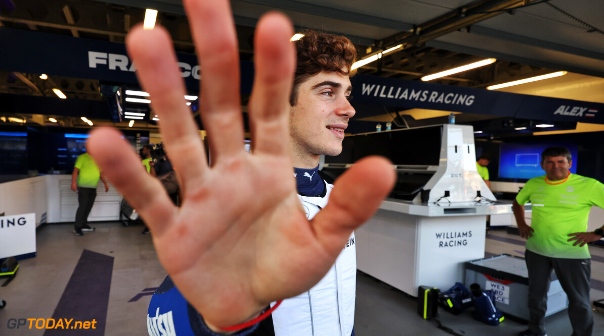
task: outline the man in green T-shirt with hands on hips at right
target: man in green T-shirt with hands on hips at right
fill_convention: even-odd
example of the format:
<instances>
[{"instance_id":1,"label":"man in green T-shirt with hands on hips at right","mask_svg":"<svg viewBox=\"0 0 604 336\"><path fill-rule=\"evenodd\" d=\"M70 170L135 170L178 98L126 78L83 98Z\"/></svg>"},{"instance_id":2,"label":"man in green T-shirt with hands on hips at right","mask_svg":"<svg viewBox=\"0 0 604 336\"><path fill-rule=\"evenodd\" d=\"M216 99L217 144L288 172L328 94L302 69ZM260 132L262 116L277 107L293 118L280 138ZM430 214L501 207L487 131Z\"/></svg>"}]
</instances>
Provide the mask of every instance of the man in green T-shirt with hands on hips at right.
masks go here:
<instances>
[{"instance_id":1,"label":"man in green T-shirt with hands on hips at right","mask_svg":"<svg viewBox=\"0 0 604 336\"><path fill-rule=\"evenodd\" d=\"M603 237L602 228L587 230L590 209L604 208L604 184L571 174L568 149L551 147L541 154L544 176L529 179L512 209L518 231L527 239L528 329L518 336L545 335L544 317L551 269L567 293L568 317L574 336L591 335L594 326L590 303L591 256L586 243ZM524 219L524 204L531 202L531 226Z\"/></svg>"}]
</instances>

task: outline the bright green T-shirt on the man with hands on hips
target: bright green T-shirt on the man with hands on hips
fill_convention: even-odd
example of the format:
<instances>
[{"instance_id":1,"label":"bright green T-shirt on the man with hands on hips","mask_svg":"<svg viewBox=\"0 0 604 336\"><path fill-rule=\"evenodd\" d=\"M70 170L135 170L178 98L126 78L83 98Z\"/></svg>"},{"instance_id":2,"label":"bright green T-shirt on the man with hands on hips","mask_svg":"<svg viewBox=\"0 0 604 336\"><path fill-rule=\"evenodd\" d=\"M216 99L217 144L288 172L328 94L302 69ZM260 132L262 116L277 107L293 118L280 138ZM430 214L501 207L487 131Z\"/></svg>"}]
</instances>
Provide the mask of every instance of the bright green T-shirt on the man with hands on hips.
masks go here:
<instances>
[{"instance_id":1,"label":"bright green T-shirt on the man with hands on hips","mask_svg":"<svg viewBox=\"0 0 604 336\"><path fill-rule=\"evenodd\" d=\"M518 204L533 205L531 227L526 249L553 258L591 258L587 245L573 246L568 234L587 231L587 220L593 205L604 208L604 184L593 178L570 174L560 184L550 184L544 176L529 179L516 196Z\"/></svg>"}]
</instances>

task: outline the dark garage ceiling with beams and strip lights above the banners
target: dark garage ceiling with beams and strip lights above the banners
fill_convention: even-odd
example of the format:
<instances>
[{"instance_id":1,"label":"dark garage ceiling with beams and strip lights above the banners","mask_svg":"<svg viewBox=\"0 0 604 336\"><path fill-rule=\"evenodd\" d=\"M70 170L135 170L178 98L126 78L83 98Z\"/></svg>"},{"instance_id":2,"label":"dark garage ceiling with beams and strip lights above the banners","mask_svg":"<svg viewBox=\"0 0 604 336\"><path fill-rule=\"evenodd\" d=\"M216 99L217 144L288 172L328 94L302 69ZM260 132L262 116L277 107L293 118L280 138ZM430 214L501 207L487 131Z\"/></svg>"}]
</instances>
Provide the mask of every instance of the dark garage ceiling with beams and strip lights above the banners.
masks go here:
<instances>
[{"instance_id":1,"label":"dark garage ceiling with beams and strip lights above the banners","mask_svg":"<svg viewBox=\"0 0 604 336\"><path fill-rule=\"evenodd\" d=\"M15 8L8 13L6 5L11 3ZM159 23L172 34L177 51L194 52L179 0L0 0L0 4L2 26L110 42L123 42L130 27L143 21L144 8L154 8L159 10ZM567 70L575 74L555 79L556 87L566 87L567 81L573 82L567 87L576 87L577 78L589 82L574 90L580 98L547 83L554 79L533 84L530 94L604 102L604 1L232 0L231 5L242 60L252 60L255 23L263 13L276 9L288 14L297 29L348 36L361 57L403 45L359 73L419 80L429 73L494 57L498 61L490 66L434 82L484 88ZM51 85L38 75L0 72L0 93L53 95ZM69 98L99 97L98 81L51 80ZM521 87L513 90L524 93Z\"/></svg>"}]
</instances>

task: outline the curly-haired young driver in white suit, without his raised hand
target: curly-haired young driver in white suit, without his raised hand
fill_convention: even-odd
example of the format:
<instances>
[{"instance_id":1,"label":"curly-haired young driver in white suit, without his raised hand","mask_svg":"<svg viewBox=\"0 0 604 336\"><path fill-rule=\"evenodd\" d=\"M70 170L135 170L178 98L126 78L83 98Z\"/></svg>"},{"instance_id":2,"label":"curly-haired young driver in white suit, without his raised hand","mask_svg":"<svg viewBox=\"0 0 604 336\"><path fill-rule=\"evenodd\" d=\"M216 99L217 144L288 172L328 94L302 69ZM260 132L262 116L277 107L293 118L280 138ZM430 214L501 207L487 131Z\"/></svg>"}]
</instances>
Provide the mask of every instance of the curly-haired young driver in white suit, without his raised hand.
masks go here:
<instances>
[{"instance_id":1,"label":"curly-haired young driver in white suit, without his raised hand","mask_svg":"<svg viewBox=\"0 0 604 336\"><path fill-rule=\"evenodd\" d=\"M349 69L355 62L356 49L346 37L313 30L301 34L304 37L295 42L297 67L289 99L289 137L298 198L306 218L311 220L327 205L333 188L319 172L320 157L342 151L344 130L355 115L349 102L350 76L354 72ZM318 284L283 300L251 335L354 335L354 232L342 247L335 264ZM171 279L166 278L150 303L149 318L157 308L165 308L161 307L165 301L162 296L174 296L175 291ZM191 328L196 335L209 332L201 323L191 323Z\"/></svg>"}]
</instances>

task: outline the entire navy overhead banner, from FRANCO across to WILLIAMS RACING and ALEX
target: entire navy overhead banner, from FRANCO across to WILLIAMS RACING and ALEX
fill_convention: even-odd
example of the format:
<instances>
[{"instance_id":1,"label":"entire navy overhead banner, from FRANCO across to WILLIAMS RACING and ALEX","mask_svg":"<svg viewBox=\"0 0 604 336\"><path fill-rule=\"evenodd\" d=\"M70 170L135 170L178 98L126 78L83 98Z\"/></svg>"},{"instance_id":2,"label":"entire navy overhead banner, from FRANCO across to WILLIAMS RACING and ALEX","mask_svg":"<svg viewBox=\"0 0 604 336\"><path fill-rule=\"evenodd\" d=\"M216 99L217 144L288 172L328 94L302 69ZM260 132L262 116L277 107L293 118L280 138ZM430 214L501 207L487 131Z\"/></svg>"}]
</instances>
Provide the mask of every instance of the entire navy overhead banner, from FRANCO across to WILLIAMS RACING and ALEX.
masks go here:
<instances>
[{"instance_id":1,"label":"entire navy overhead banner, from FRANCO across to WILLIAMS RACING and ALEX","mask_svg":"<svg viewBox=\"0 0 604 336\"><path fill-rule=\"evenodd\" d=\"M123 43L81 39L0 27L0 69L72 78L138 84L135 64ZM190 90L199 88L196 55L177 54L179 71ZM241 62L242 94L251 93L254 64ZM520 95L422 81L356 75L353 104L396 109L424 108L521 119L604 123L604 104ZM602 111L602 112L600 112ZM376 114L384 114L376 108Z\"/></svg>"}]
</instances>

